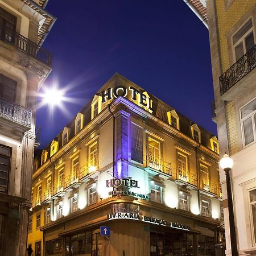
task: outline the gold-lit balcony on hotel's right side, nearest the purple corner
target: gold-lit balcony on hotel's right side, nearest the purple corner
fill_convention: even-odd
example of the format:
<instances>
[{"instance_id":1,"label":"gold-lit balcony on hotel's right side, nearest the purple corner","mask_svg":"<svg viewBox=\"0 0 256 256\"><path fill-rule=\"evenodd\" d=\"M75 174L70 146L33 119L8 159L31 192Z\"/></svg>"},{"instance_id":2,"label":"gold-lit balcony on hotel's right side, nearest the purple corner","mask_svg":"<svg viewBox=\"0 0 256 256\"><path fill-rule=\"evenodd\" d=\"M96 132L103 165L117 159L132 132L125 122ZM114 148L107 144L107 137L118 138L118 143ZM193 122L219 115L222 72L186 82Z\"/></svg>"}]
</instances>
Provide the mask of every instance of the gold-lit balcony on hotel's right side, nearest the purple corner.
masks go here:
<instances>
[{"instance_id":1,"label":"gold-lit balcony on hotel's right side, nearest the purple corner","mask_svg":"<svg viewBox=\"0 0 256 256\"><path fill-rule=\"evenodd\" d=\"M172 176L172 168L170 163L161 161L160 159L158 159L158 161L152 160L151 156L147 156L146 158L145 170L153 175L160 174L167 177Z\"/></svg>"}]
</instances>

